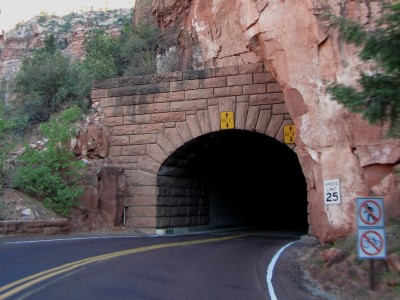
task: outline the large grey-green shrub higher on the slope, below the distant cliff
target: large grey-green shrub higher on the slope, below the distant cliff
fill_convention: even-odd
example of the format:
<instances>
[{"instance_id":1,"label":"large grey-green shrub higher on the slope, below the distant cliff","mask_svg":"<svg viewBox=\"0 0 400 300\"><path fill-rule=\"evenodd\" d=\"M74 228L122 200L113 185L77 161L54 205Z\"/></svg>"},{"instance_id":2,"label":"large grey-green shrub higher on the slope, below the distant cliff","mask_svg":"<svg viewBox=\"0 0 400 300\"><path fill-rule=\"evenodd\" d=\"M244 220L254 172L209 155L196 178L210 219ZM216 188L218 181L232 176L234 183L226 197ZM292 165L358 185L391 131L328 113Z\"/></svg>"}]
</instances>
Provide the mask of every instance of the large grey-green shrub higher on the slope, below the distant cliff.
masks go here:
<instances>
[{"instance_id":1,"label":"large grey-green shrub higher on the slope, below the distant cliff","mask_svg":"<svg viewBox=\"0 0 400 300\"><path fill-rule=\"evenodd\" d=\"M23 131L46 122L65 103L86 108L91 83L79 72L77 63L63 57L53 35L45 38L45 46L25 57L16 74L11 92L13 106Z\"/></svg>"}]
</instances>

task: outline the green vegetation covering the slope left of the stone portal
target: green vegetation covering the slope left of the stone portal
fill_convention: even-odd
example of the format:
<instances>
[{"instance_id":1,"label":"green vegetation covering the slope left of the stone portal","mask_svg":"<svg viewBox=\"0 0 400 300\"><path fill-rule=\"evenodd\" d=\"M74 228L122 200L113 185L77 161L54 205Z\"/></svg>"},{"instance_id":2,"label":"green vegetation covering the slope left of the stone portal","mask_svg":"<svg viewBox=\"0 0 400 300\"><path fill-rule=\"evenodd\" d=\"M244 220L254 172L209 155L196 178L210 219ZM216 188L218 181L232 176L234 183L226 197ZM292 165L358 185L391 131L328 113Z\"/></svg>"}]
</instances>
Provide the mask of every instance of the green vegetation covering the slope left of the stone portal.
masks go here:
<instances>
[{"instance_id":1,"label":"green vegetation covering the slope left of the stone portal","mask_svg":"<svg viewBox=\"0 0 400 300\"><path fill-rule=\"evenodd\" d=\"M0 181L11 178L16 188L43 199L46 207L63 216L69 215L82 193L85 166L70 151L69 142L76 136L74 122L90 107L92 80L156 72L158 28L131 28L130 20L125 20L120 34L110 35L98 26L106 19L103 14L93 21L81 60L63 55L65 45L60 43L60 34L77 23L68 19L60 27L53 17L40 16L42 26L50 24L62 30L47 34L43 46L23 57L15 77L0 88L0 138L6 138L8 144L13 140L21 142L20 137L29 136L37 128L46 140L41 150L27 144L24 154L16 160L15 170L7 170L12 174L4 172L2 162L7 153L2 145Z\"/></svg>"}]
</instances>

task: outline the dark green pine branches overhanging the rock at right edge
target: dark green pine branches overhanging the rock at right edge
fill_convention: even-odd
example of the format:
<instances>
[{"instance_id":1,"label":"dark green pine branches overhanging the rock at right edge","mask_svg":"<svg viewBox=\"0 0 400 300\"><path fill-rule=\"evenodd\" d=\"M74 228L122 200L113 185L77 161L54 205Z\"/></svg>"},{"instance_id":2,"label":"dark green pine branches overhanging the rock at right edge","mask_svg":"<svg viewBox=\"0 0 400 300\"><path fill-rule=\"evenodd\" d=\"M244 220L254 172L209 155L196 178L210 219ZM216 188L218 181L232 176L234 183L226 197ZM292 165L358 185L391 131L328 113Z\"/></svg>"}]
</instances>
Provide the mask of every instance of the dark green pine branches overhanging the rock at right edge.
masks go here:
<instances>
[{"instance_id":1,"label":"dark green pine branches overhanging the rock at right edge","mask_svg":"<svg viewBox=\"0 0 400 300\"><path fill-rule=\"evenodd\" d=\"M335 17L333 24L347 43L361 48L363 61L375 62L375 68L360 73L357 88L335 82L328 93L371 124L387 123L389 137L400 137L400 1L383 6L371 31L342 17Z\"/></svg>"}]
</instances>

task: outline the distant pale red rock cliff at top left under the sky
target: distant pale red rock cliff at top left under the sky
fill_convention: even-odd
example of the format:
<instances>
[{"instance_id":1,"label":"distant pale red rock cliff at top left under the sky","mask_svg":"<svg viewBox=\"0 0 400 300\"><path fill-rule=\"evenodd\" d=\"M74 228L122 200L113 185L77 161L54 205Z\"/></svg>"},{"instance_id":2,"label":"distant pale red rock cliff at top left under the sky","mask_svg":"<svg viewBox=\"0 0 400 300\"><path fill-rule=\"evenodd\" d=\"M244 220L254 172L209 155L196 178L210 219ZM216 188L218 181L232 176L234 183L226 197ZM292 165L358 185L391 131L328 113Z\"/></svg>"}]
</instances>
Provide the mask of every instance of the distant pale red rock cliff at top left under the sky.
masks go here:
<instances>
[{"instance_id":1,"label":"distant pale red rock cliff at top left under the sky","mask_svg":"<svg viewBox=\"0 0 400 300\"><path fill-rule=\"evenodd\" d=\"M40 47L47 34L56 36L66 56L82 58L85 35L96 28L104 29L110 34L119 34L131 14L130 9L119 9L71 13L63 17L41 15L18 24L14 29L0 34L0 78L12 78L23 55Z\"/></svg>"}]
</instances>

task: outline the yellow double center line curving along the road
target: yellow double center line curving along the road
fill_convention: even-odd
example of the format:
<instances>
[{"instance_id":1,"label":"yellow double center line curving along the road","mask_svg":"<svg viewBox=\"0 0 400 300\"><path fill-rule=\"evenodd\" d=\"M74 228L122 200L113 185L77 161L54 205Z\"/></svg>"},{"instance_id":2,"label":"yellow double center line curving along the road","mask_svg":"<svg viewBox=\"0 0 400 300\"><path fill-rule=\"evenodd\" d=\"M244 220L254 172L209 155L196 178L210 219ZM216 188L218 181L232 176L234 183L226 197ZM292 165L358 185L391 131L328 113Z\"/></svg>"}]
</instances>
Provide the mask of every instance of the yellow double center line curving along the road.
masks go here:
<instances>
[{"instance_id":1,"label":"yellow double center line curving along the road","mask_svg":"<svg viewBox=\"0 0 400 300\"><path fill-rule=\"evenodd\" d=\"M17 280L12 283L9 283L5 286L2 286L2 287L0 287L0 299L2 299L2 300L6 299L7 297L11 297L17 293L20 293L24 289L27 289L27 288L31 287L32 285L37 284L41 281L44 281L46 279L49 279L51 277L54 277L54 276L57 276L57 275L60 275L63 273L70 272L74 269L80 268L82 266L85 266L85 265L88 265L88 264L91 264L94 262L111 259L111 258L118 257L118 256L128 255L128 254L139 253L139 252L157 250L157 249L162 249L162 248L219 242L219 241L225 241L225 240L230 240L230 239L236 239L236 238L240 238L240 237L248 236L248 235L249 234L243 234L243 235L233 235L233 236L226 236L226 237L220 237L220 238L194 240L194 241L187 241L187 242L157 244L157 245L152 245L152 246L147 246L147 247L134 248L134 249L112 252L112 253L108 253L108 254L103 254L103 255L98 255L98 256L81 259L81 260L78 260L78 261L75 261L72 263L61 265L61 266L53 268L53 269L49 269L49 270L46 270L43 272L39 272L39 273L30 275L28 277L22 278L20 280Z\"/></svg>"}]
</instances>

